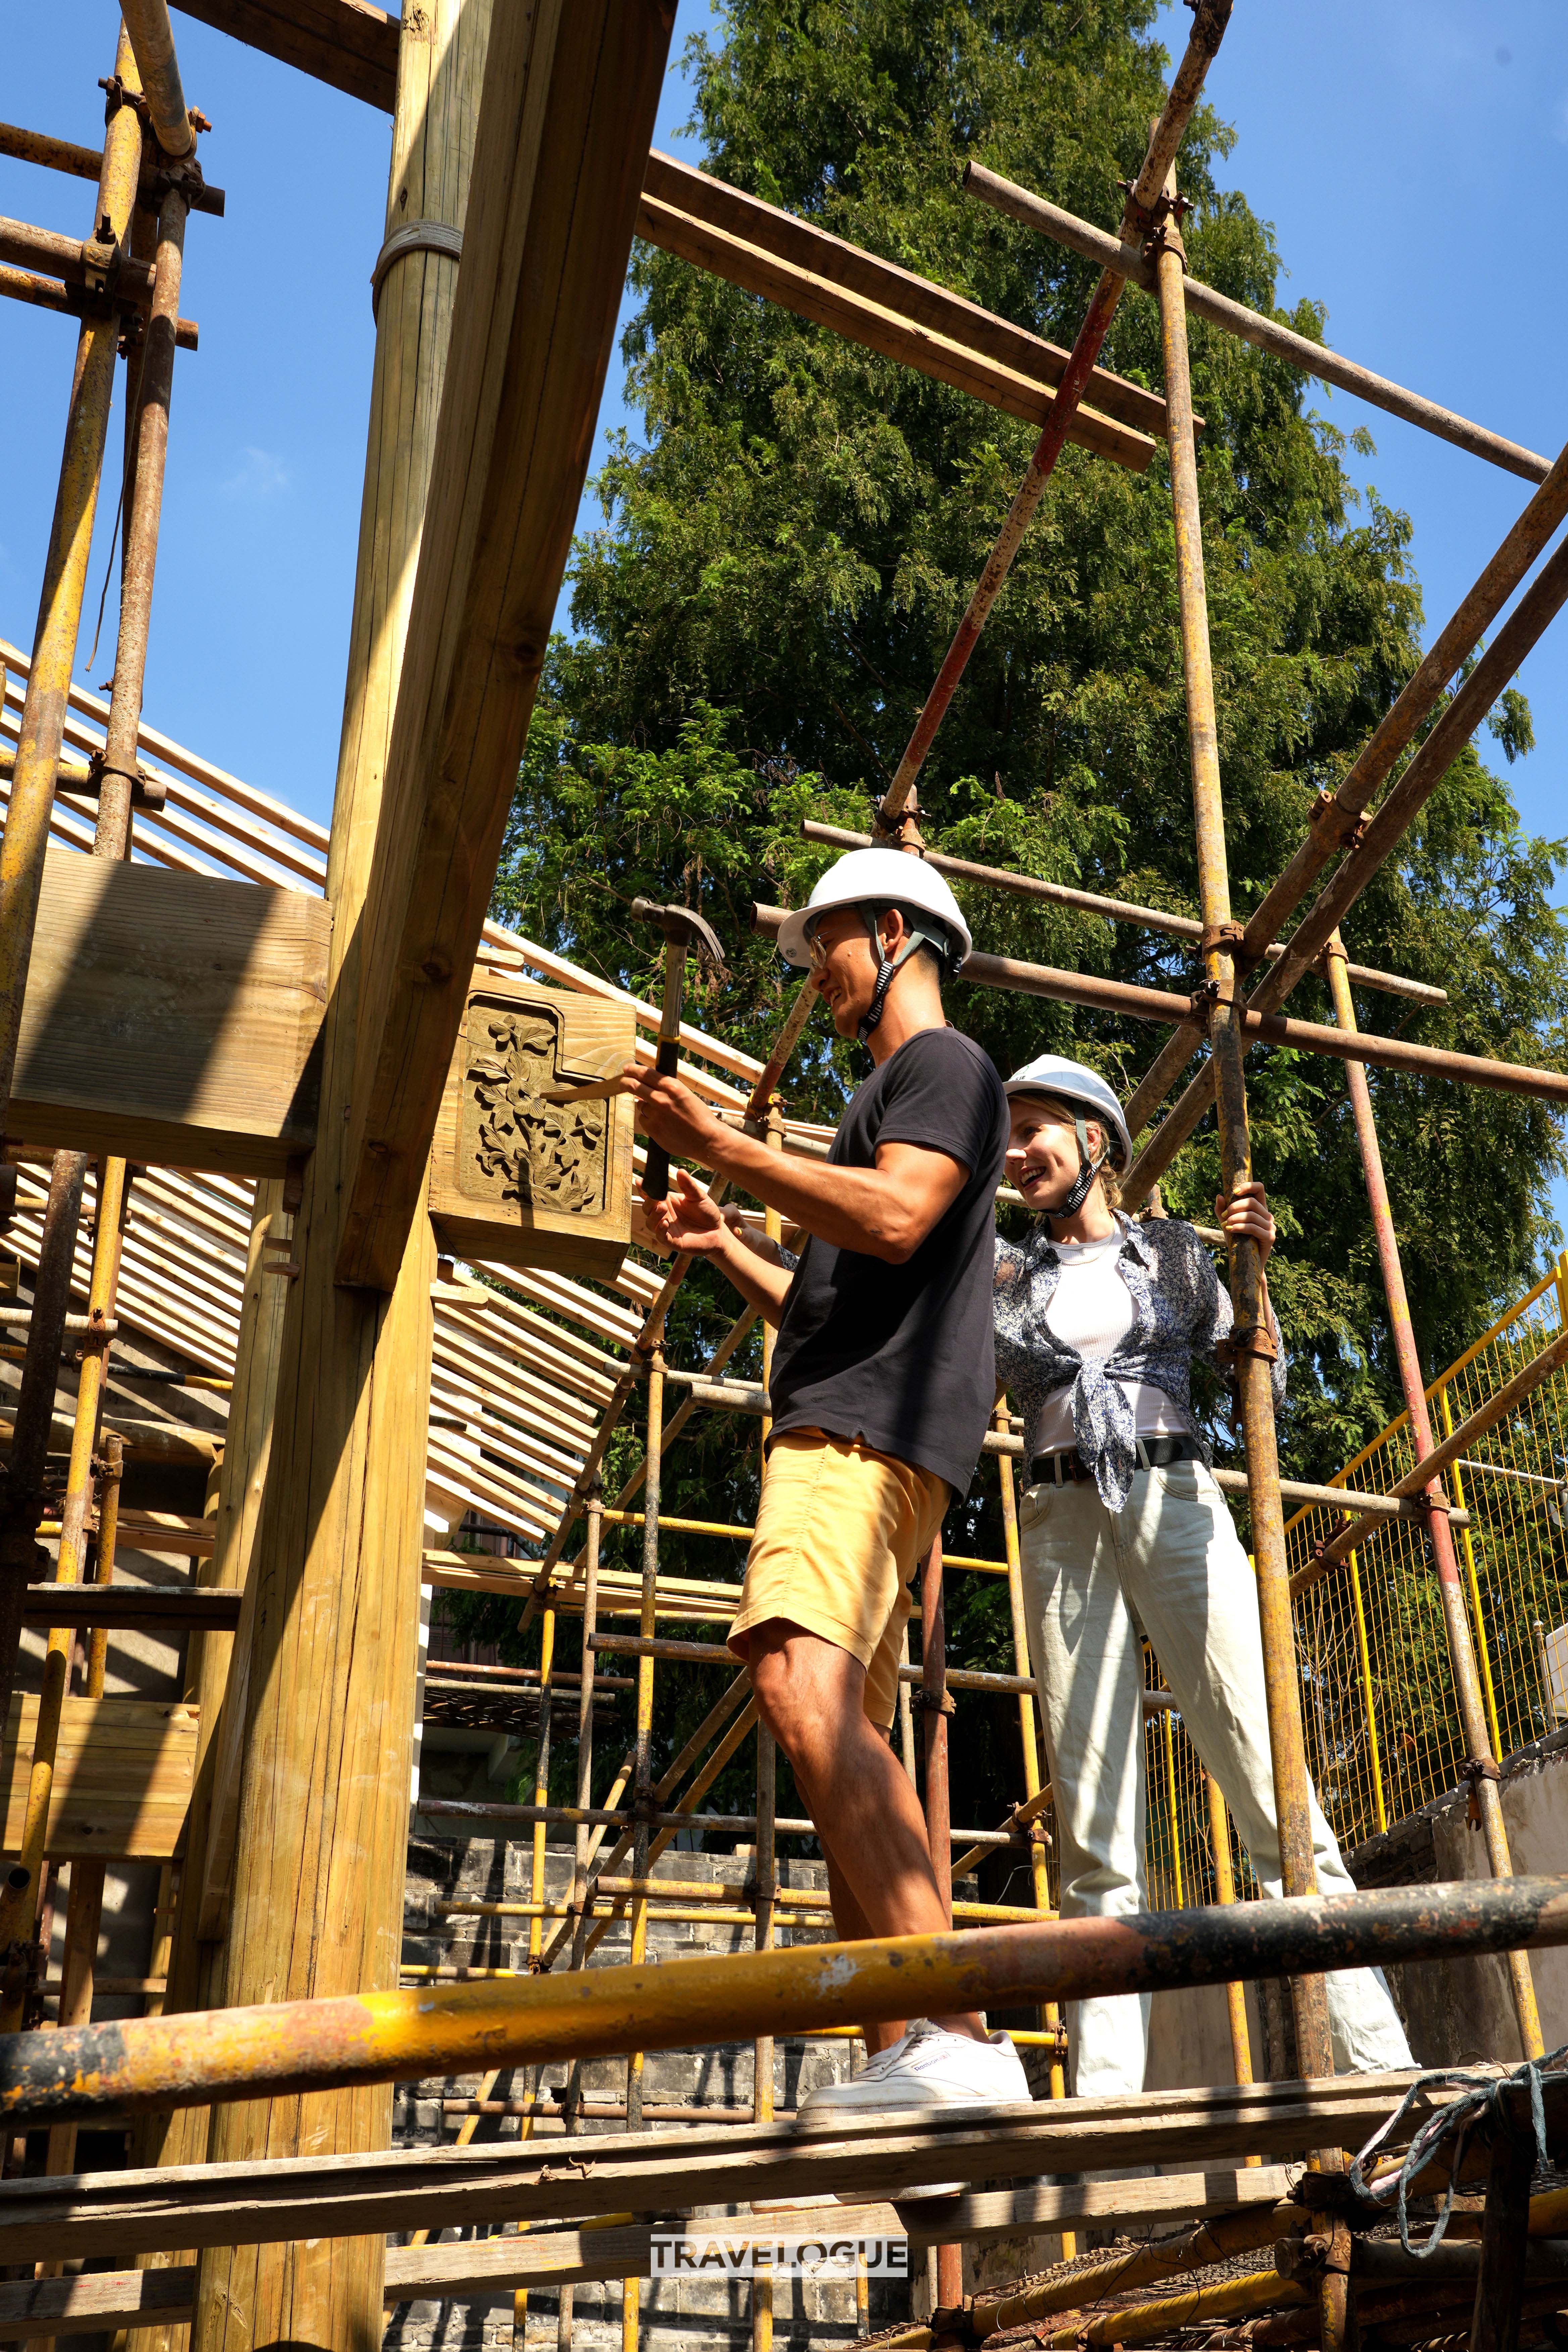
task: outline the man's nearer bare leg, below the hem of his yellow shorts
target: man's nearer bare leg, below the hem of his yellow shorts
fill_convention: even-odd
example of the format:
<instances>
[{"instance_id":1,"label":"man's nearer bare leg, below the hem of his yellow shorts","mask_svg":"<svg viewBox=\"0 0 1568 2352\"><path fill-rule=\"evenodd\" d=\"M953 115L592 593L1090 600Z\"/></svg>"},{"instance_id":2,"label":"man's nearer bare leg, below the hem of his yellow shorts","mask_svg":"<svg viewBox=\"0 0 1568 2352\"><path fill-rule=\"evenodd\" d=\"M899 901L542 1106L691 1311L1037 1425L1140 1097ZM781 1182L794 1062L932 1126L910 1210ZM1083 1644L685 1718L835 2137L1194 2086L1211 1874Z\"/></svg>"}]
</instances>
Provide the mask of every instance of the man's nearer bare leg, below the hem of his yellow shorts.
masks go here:
<instances>
[{"instance_id":1,"label":"man's nearer bare leg, below the hem of his yellow shorts","mask_svg":"<svg viewBox=\"0 0 1568 2352\"><path fill-rule=\"evenodd\" d=\"M748 1630L748 1668L757 1710L795 1766L827 1853L839 1933L849 1936L853 1903L860 1936L945 1936L947 1910L919 1799L867 1722L860 1661L788 1618L769 1618ZM987 2039L973 2009L931 2023Z\"/></svg>"}]
</instances>

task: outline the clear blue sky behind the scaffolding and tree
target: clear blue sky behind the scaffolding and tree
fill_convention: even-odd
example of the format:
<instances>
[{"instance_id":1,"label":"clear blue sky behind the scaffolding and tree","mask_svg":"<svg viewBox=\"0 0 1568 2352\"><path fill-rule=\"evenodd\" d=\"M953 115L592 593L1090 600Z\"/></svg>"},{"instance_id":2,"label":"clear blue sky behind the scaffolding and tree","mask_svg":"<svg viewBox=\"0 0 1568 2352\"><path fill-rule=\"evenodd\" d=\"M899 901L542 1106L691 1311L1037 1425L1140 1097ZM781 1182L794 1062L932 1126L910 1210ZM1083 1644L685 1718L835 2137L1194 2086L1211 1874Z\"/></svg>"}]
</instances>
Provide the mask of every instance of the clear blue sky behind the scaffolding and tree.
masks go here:
<instances>
[{"instance_id":1,"label":"clear blue sky behind the scaffolding and tree","mask_svg":"<svg viewBox=\"0 0 1568 2352\"><path fill-rule=\"evenodd\" d=\"M682 0L672 59L710 21ZM381 245L388 125L376 111L176 14L186 92L214 122L209 179L228 219L193 219L146 713L221 767L324 818L336 762L371 367L369 270ZM1171 49L1185 7L1164 7ZM1274 223L1286 299L1328 306L1328 341L1401 383L1552 454L1568 430L1568 325L1549 191L1568 165L1561 0L1237 0L1211 99L1237 127L1227 176ZM7 26L9 87L35 129L94 143L110 0L49 0ZM21 111L21 96L12 111ZM682 151L670 71L656 143ZM686 153L691 148L686 146ZM1046 191L1048 193L1048 191ZM92 191L0 158L0 212L82 235ZM1105 221L1114 216L1107 188ZM49 532L73 329L0 303L7 475L0 635L26 644ZM635 423L621 360L599 419ZM1526 485L1342 393L1312 390L1378 454L1352 459L1410 513L1427 623L1439 626ZM115 416L115 437L120 419ZM597 506L588 501L588 520ZM87 670L113 489L94 546L78 675L113 666L113 583ZM1568 830L1568 677L1547 637L1521 675L1535 753L1512 769L1523 821Z\"/></svg>"}]
</instances>

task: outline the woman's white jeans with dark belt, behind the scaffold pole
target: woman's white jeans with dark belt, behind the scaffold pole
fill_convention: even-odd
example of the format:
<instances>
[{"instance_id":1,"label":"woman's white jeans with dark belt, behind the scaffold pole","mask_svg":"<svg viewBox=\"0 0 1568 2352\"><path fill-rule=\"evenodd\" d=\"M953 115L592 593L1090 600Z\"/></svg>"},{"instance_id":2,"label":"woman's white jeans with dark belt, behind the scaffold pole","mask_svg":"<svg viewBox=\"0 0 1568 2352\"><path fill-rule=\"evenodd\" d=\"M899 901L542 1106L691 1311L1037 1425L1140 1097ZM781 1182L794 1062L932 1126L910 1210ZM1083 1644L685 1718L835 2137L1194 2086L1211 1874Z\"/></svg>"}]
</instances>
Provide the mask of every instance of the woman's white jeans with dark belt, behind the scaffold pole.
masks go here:
<instances>
[{"instance_id":1,"label":"woman's white jeans with dark belt, behind the scaffold pole","mask_svg":"<svg viewBox=\"0 0 1568 2352\"><path fill-rule=\"evenodd\" d=\"M1192 1745L1220 1783L1253 1872L1281 1893L1258 1583L1204 1463L1140 1470L1110 1512L1088 1482L1025 1489L1018 1510L1030 1658L1060 1837L1063 1919L1145 1907L1143 1658L1154 1646ZM1312 1797L1319 1893L1352 1893ZM1413 2065L1382 1971L1328 1978L1340 2072ZM1143 2091L1150 1997L1070 2004L1079 2098Z\"/></svg>"}]
</instances>

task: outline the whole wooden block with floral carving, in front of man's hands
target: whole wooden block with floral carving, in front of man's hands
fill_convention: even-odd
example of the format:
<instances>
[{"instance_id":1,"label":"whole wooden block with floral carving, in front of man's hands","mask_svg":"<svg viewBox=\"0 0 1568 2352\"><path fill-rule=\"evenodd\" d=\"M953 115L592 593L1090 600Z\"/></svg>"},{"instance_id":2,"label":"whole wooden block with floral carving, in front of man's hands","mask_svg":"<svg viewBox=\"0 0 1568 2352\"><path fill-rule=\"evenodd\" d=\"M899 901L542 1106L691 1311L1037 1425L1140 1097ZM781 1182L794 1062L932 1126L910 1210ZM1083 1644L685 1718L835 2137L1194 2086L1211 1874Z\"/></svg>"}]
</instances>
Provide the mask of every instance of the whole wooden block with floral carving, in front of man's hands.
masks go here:
<instances>
[{"instance_id":1,"label":"whole wooden block with floral carving, in front of man's hands","mask_svg":"<svg viewBox=\"0 0 1568 2352\"><path fill-rule=\"evenodd\" d=\"M430 1152L447 1249L508 1265L614 1275L630 1240L632 1117L623 1096L545 1103L632 1056L630 1011L571 990L491 981L468 995Z\"/></svg>"}]
</instances>

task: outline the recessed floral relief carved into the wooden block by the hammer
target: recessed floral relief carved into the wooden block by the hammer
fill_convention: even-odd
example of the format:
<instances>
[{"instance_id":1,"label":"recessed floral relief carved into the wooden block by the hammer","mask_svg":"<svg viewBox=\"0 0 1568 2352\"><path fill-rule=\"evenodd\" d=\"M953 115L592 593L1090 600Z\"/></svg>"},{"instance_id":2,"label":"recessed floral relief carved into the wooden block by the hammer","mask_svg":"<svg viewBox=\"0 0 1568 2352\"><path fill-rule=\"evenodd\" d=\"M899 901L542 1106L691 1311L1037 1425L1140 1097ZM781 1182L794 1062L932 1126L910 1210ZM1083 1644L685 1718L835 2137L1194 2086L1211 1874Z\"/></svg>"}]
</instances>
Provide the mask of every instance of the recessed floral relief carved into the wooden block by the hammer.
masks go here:
<instances>
[{"instance_id":1,"label":"recessed floral relief carved into the wooden block by the hammer","mask_svg":"<svg viewBox=\"0 0 1568 2352\"><path fill-rule=\"evenodd\" d=\"M524 1209L597 1214L609 1178L607 1103L541 1103L562 1070L562 1018L473 997L463 1054L458 1190Z\"/></svg>"}]
</instances>

